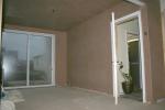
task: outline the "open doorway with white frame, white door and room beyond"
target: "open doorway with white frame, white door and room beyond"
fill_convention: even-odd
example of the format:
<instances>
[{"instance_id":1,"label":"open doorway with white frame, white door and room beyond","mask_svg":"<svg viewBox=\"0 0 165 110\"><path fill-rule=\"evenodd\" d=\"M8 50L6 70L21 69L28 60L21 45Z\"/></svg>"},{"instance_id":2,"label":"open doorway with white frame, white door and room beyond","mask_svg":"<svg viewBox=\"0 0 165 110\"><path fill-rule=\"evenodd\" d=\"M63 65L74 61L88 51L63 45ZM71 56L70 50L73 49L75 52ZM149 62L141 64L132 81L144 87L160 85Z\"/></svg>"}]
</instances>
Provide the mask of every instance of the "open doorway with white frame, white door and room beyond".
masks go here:
<instances>
[{"instance_id":1,"label":"open doorway with white frame, white door and room beyond","mask_svg":"<svg viewBox=\"0 0 165 110\"><path fill-rule=\"evenodd\" d=\"M114 20L112 13L112 59L113 59L113 96L146 102L144 52L141 11ZM122 64L122 70L120 65ZM132 92L127 94L123 88L125 78L132 79Z\"/></svg>"}]
</instances>

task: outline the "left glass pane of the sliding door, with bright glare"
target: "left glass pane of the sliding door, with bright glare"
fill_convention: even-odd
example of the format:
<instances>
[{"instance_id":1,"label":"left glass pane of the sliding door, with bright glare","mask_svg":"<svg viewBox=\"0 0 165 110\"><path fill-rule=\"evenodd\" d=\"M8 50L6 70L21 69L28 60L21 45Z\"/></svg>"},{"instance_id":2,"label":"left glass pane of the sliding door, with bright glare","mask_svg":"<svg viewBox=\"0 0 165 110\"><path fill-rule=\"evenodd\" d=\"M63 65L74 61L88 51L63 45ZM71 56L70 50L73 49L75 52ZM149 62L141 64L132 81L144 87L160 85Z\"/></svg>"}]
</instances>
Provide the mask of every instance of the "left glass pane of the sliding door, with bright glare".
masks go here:
<instances>
[{"instance_id":1,"label":"left glass pane of the sliding door, with bright glare","mask_svg":"<svg viewBox=\"0 0 165 110\"><path fill-rule=\"evenodd\" d=\"M3 85L26 86L28 35L12 32L2 35Z\"/></svg>"}]
</instances>

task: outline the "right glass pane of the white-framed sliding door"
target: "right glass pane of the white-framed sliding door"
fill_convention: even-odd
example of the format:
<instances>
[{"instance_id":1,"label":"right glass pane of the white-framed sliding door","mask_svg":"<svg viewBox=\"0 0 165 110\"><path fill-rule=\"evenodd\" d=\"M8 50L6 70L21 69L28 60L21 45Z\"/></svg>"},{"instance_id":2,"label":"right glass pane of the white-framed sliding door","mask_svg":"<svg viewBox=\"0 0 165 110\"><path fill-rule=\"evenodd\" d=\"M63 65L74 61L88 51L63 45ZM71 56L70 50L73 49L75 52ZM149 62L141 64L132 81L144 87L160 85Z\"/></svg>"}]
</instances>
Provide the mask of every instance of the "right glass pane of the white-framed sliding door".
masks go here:
<instances>
[{"instance_id":1,"label":"right glass pane of the white-framed sliding door","mask_svg":"<svg viewBox=\"0 0 165 110\"><path fill-rule=\"evenodd\" d=\"M52 37L31 35L29 40L30 85L51 85Z\"/></svg>"}]
</instances>

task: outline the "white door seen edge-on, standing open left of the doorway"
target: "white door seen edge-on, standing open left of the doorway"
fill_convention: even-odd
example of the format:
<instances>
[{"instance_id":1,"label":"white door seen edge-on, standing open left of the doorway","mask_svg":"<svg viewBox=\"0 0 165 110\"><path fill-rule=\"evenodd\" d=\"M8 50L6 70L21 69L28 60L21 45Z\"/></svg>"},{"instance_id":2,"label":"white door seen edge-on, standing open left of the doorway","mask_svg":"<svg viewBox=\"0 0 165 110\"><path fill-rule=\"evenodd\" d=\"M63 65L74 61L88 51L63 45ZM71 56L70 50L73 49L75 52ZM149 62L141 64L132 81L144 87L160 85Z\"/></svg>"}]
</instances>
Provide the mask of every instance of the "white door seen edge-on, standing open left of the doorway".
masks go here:
<instances>
[{"instance_id":1,"label":"white door seen edge-on, standing open left of the doorway","mask_svg":"<svg viewBox=\"0 0 165 110\"><path fill-rule=\"evenodd\" d=\"M116 22L114 22L114 12L112 12L112 22L111 22L111 47L112 47L112 69L113 69L113 96L114 103L118 105L118 64L117 64L117 46L116 46Z\"/></svg>"}]
</instances>

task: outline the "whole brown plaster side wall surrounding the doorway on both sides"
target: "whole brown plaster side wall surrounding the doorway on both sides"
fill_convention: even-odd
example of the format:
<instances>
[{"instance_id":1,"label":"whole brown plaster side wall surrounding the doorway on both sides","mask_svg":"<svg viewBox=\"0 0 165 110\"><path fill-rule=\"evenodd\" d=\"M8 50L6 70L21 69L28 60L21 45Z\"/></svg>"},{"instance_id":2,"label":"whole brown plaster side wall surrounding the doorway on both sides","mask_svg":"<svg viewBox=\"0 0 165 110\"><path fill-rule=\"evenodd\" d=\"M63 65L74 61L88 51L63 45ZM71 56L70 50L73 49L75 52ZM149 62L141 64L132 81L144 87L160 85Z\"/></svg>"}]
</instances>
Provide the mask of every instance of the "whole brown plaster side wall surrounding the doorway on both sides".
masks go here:
<instances>
[{"instance_id":1,"label":"whole brown plaster side wall surrounding the doorway on both sides","mask_svg":"<svg viewBox=\"0 0 165 110\"><path fill-rule=\"evenodd\" d=\"M68 80L70 86L112 94L111 12L116 19L142 11L146 100L163 98L164 63L158 0L144 7L122 2L72 28L68 33Z\"/></svg>"}]
</instances>

